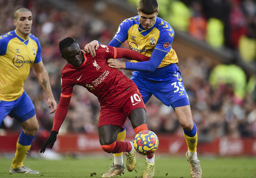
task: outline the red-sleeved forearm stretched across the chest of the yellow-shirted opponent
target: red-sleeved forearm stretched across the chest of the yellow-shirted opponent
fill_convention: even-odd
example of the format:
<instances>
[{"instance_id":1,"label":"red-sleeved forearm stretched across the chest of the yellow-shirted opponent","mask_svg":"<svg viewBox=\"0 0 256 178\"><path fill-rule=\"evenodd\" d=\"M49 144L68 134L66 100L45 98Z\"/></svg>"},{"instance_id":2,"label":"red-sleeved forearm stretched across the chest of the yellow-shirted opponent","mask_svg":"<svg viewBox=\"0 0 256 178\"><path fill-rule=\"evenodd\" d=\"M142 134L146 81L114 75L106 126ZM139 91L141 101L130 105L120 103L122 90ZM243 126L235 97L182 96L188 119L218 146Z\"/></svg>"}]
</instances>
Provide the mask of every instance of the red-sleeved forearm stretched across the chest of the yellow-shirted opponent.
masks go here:
<instances>
[{"instance_id":1,"label":"red-sleeved forearm stretched across the chest of the yellow-shirted opponent","mask_svg":"<svg viewBox=\"0 0 256 178\"><path fill-rule=\"evenodd\" d=\"M136 61L148 61L150 59L150 57L147 57L138 52L132 51L130 49L122 49L122 48L117 48L116 58L117 59L125 58L125 59L136 60Z\"/></svg>"}]
</instances>

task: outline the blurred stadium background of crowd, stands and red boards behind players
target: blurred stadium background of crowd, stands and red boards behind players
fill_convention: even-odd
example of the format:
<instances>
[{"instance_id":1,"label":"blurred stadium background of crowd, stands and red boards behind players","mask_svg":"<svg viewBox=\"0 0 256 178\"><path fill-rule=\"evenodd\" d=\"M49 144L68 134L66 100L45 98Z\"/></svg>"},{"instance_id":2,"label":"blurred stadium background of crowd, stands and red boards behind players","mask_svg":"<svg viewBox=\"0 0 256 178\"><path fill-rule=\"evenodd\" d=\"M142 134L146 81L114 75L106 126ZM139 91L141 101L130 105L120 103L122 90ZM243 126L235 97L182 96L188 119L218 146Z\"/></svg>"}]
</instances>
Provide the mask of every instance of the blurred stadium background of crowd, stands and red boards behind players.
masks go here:
<instances>
[{"instance_id":1,"label":"blurred stadium background of crowd, stands and red boards behind players","mask_svg":"<svg viewBox=\"0 0 256 178\"><path fill-rule=\"evenodd\" d=\"M174 28L173 49L189 95L199 135L198 152L220 156L256 156L256 1L158 0L159 17ZM60 71L65 61L58 43L74 37L82 49L97 39L108 44L122 20L137 15L138 0L0 0L0 34L14 28L17 7L32 11L31 33L41 43L52 92L60 99ZM128 48L127 44L122 45ZM131 71L123 71L128 77ZM47 96L31 71L25 91L40 124L31 151L38 153L52 128ZM159 153L184 154L183 131L171 107L152 97L146 104L148 127L159 136ZM74 88L70 109L54 150L102 152L97 138L97 98ZM127 140L134 131L129 122ZM15 152L21 127L10 117L0 126L0 154ZM8 141L10 144L2 144Z\"/></svg>"}]
</instances>

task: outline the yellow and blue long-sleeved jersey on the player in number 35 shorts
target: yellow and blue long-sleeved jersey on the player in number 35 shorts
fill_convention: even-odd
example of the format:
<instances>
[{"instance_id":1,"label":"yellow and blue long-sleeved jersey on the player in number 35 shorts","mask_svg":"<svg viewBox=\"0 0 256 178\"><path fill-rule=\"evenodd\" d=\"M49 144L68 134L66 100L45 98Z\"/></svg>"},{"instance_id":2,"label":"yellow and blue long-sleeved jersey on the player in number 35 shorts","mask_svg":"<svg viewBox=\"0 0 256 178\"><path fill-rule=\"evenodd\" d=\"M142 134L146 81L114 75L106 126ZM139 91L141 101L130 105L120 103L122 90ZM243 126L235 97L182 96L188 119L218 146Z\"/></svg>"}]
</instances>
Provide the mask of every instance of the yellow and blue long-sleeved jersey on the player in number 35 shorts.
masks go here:
<instances>
[{"instance_id":1,"label":"yellow and blue long-sleeved jersey on the player in number 35 shorts","mask_svg":"<svg viewBox=\"0 0 256 178\"><path fill-rule=\"evenodd\" d=\"M151 57L149 61L140 63L147 63L147 68L154 65L154 67L152 67L154 68L152 71L154 71L155 68L161 68L171 63L179 62L175 51L171 48L173 38L174 30L161 18L156 17L153 26L148 30L144 30L140 27L139 16L135 16L124 20L119 25L117 33L112 41L110 41L109 46L119 47L118 45L121 45L121 43L127 40L130 49ZM118 44L116 40L118 40L120 44ZM129 65L127 69L147 71L146 68L143 70L145 65L127 64Z\"/></svg>"}]
</instances>

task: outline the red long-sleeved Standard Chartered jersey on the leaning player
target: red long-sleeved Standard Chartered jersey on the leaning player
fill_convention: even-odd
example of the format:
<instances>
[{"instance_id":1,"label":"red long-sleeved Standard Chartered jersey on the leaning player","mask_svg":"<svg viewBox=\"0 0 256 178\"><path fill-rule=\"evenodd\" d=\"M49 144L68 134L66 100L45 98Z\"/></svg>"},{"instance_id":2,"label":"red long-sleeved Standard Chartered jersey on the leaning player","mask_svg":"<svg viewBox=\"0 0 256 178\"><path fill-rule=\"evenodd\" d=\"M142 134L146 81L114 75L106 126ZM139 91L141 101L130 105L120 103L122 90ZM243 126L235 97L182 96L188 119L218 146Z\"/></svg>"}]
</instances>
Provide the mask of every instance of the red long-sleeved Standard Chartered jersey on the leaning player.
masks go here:
<instances>
[{"instance_id":1,"label":"red long-sleeved Standard Chartered jersey on the leaning player","mask_svg":"<svg viewBox=\"0 0 256 178\"><path fill-rule=\"evenodd\" d=\"M100 44L96 56L81 50L85 61L80 67L67 63L62 69L60 102L57 106L52 130L59 131L64 121L73 87L81 85L97 96L100 105L111 104L134 91L137 86L121 71L108 66L107 59L126 58L137 61L148 61L149 57L130 49L115 48ZM138 89L137 89L138 90Z\"/></svg>"}]
</instances>

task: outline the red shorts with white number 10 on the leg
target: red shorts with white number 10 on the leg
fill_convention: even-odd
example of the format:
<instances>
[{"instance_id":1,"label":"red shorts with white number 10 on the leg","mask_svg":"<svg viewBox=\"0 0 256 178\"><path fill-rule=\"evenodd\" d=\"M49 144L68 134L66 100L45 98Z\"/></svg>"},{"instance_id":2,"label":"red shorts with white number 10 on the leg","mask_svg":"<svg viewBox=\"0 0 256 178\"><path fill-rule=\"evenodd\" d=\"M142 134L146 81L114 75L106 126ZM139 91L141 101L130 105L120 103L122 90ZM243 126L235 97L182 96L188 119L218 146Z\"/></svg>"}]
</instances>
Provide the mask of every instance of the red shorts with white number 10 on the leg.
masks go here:
<instances>
[{"instance_id":1,"label":"red shorts with white number 10 on the leg","mask_svg":"<svg viewBox=\"0 0 256 178\"><path fill-rule=\"evenodd\" d=\"M119 125L124 129L124 123L130 112L137 108L146 110L139 90L133 90L129 95L119 100L101 106L98 127L102 125Z\"/></svg>"}]
</instances>

